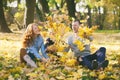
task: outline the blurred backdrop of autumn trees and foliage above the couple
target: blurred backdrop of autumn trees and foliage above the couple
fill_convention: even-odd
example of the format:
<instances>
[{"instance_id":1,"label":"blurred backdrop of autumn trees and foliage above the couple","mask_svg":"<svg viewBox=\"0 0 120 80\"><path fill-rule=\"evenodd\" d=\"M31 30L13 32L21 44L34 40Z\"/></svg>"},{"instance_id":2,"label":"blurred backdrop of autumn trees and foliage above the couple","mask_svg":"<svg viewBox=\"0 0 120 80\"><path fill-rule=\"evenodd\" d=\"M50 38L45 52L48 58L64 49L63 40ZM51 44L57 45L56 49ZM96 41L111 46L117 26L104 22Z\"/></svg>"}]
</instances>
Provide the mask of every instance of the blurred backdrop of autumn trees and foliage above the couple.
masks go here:
<instances>
[{"instance_id":1,"label":"blurred backdrop of autumn trees and foliage above the couple","mask_svg":"<svg viewBox=\"0 0 120 80\"><path fill-rule=\"evenodd\" d=\"M61 22L66 21L65 15L67 20L77 18L88 27L120 30L119 0L0 0L0 32L19 31L56 15Z\"/></svg>"}]
</instances>

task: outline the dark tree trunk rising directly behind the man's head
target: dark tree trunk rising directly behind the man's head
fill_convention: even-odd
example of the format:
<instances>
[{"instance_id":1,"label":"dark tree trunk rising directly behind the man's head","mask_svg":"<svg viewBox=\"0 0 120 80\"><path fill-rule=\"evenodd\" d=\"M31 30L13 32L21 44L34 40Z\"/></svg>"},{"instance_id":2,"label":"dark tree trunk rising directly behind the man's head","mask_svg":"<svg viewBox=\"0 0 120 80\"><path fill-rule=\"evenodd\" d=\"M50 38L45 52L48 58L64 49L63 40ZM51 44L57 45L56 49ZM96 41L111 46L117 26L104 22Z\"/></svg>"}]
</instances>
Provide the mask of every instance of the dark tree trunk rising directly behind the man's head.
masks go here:
<instances>
[{"instance_id":1,"label":"dark tree trunk rising directly behind the man's head","mask_svg":"<svg viewBox=\"0 0 120 80\"><path fill-rule=\"evenodd\" d=\"M66 0L68 15L75 18L75 2L74 0Z\"/></svg>"}]
</instances>

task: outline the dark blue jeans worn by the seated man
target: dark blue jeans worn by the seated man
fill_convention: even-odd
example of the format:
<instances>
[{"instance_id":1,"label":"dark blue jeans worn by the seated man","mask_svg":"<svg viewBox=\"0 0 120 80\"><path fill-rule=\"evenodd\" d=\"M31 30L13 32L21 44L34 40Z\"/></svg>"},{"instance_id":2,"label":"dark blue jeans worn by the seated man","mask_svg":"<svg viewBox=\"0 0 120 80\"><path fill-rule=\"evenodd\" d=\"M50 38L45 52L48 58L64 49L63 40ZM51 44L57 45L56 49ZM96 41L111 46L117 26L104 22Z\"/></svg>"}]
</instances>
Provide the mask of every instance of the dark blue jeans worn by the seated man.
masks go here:
<instances>
[{"instance_id":1,"label":"dark blue jeans worn by the seated man","mask_svg":"<svg viewBox=\"0 0 120 80\"><path fill-rule=\"evenodd\" d=\"M98 64L102 63L105 60L105 55L106 55L106 48L101 47L94 54L82 57L81 64L92 70L93 69L92 61L96 60L98 62Z\"/></svg>"}]
</instances>

